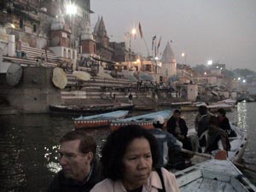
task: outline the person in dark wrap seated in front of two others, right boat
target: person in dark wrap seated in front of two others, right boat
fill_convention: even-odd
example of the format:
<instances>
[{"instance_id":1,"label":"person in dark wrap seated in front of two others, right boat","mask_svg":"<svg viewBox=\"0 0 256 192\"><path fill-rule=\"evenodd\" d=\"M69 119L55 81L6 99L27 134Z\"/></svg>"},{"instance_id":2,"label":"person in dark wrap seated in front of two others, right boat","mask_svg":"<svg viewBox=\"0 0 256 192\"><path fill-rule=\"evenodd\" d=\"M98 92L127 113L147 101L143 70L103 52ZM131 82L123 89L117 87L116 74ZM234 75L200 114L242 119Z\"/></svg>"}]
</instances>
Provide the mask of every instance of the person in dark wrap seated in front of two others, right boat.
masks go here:
<instances>
[{"instance_id":1,"label":"person in dark wrap seated in front of two others, right boat","mask_svg":"<svg viewBox=\"0 0 256 192\"><path fill-rule=\"evenodd\" d=\"M217 117L211 116L209 119L205 153L215 155L219 150L228 152L230 148L230 140L227 133L218 127Z\"/></svg>"}]
</instances>

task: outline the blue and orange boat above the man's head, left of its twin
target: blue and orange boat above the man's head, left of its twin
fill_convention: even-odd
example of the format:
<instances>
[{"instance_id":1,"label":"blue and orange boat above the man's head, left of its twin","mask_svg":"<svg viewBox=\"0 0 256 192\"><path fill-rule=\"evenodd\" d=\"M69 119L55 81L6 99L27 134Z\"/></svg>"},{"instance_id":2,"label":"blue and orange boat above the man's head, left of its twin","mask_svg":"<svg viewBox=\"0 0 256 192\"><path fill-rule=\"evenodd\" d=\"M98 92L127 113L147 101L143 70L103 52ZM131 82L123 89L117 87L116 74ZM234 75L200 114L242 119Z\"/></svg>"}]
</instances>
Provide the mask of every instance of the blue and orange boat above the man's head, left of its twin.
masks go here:
<instances>
[{"instance_id":1,"label":"blue and orange boat above the man's head, left of its twin","mask_svg":"<svg viewBox=\"0 0 256 192\"><path fill-rule=\"evenodd\" d=\"M110 121L113 119L122 119L129 113L126 110L119 110L110 113L101 113L96 115L90 116L80 116L79 118L73 119L75 129L81 128L96 128L96 127L103 127L108 126Z\"/></svg>"}]
</instances>

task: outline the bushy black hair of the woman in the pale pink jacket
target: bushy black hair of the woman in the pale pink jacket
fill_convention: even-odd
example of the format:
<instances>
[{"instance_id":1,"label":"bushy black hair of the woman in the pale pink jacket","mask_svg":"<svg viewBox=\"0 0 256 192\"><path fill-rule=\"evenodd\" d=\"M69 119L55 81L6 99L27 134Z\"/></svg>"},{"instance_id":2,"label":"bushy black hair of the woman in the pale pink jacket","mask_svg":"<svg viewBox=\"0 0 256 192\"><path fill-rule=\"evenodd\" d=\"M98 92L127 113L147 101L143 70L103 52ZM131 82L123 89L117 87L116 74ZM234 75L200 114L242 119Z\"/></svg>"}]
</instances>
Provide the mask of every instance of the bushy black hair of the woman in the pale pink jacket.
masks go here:
<instances>
[{"instance_id":1,"label":"bushy black hair of the woman in the pale pink jacket","mask_svg":"<svg viewBox=\"0 0 256 192\"><path fill-rule=\"evenodd\" d=\"M135 138L148 140L152 154L152 166L156 167L159 161L158 145L154 136L139 125L125 125L113 131L102 148L102 167L105 177L113 181L123 178L123 157L126 148Z\"/></svg>"}]
</instances>

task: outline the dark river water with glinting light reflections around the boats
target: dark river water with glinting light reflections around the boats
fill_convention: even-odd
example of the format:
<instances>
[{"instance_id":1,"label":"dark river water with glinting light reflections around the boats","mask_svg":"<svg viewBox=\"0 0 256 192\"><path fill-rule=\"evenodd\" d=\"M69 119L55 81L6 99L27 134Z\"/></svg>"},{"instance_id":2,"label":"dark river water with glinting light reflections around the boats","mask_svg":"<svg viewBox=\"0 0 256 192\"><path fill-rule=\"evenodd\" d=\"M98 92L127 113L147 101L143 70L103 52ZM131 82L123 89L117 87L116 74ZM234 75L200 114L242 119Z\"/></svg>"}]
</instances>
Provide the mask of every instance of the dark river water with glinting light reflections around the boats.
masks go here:
<instances>
[{"instance_id":1,"label":"dark river water with glinting light reflections around the boats","mask_svg":"<svg viewBox=\"0 0 256 192\"><path fill-rule=\"evenodd\" d=\"M130 115L141 113L146 112L132 112ZM242 163L252 167L256 167L255 113L256 102L240 102L237 110L227 113L232 123L248 132L249 143ZM192 128L195 113L182 113L182 116ZM60 169L58 142L63 134L74 129L72 117L48 114L0 116L0 125L0 191L45 191ZM110 131L103 128L88 132L96 137L100 151ZM256 184L255 172L242 172Z\"/></svg>"}]
</instances>

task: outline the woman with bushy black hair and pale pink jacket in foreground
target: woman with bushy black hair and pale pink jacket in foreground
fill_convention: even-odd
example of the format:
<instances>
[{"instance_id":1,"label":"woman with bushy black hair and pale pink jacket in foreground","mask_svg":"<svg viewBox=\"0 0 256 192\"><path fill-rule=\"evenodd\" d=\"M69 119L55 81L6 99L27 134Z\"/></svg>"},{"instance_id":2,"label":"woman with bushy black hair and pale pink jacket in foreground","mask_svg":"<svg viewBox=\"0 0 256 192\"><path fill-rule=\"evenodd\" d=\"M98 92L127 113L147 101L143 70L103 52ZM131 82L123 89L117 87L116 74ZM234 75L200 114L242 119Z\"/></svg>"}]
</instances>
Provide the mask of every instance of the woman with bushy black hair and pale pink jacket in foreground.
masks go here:
<instances>
[{"instance_id":1,"label":"woman with bushy black hair and pale pink jacket in foreground","mask_svg":"<svg viewBox=\"0 0 256 192\"><path fill-rule=\"evenodd\" d=\"M156 167L158 160L158 146L153 135L138 125L121 127L108 136L102 148L106 179L91 191L179 191L174 174Z\"/></svg>"}]
</instances>

